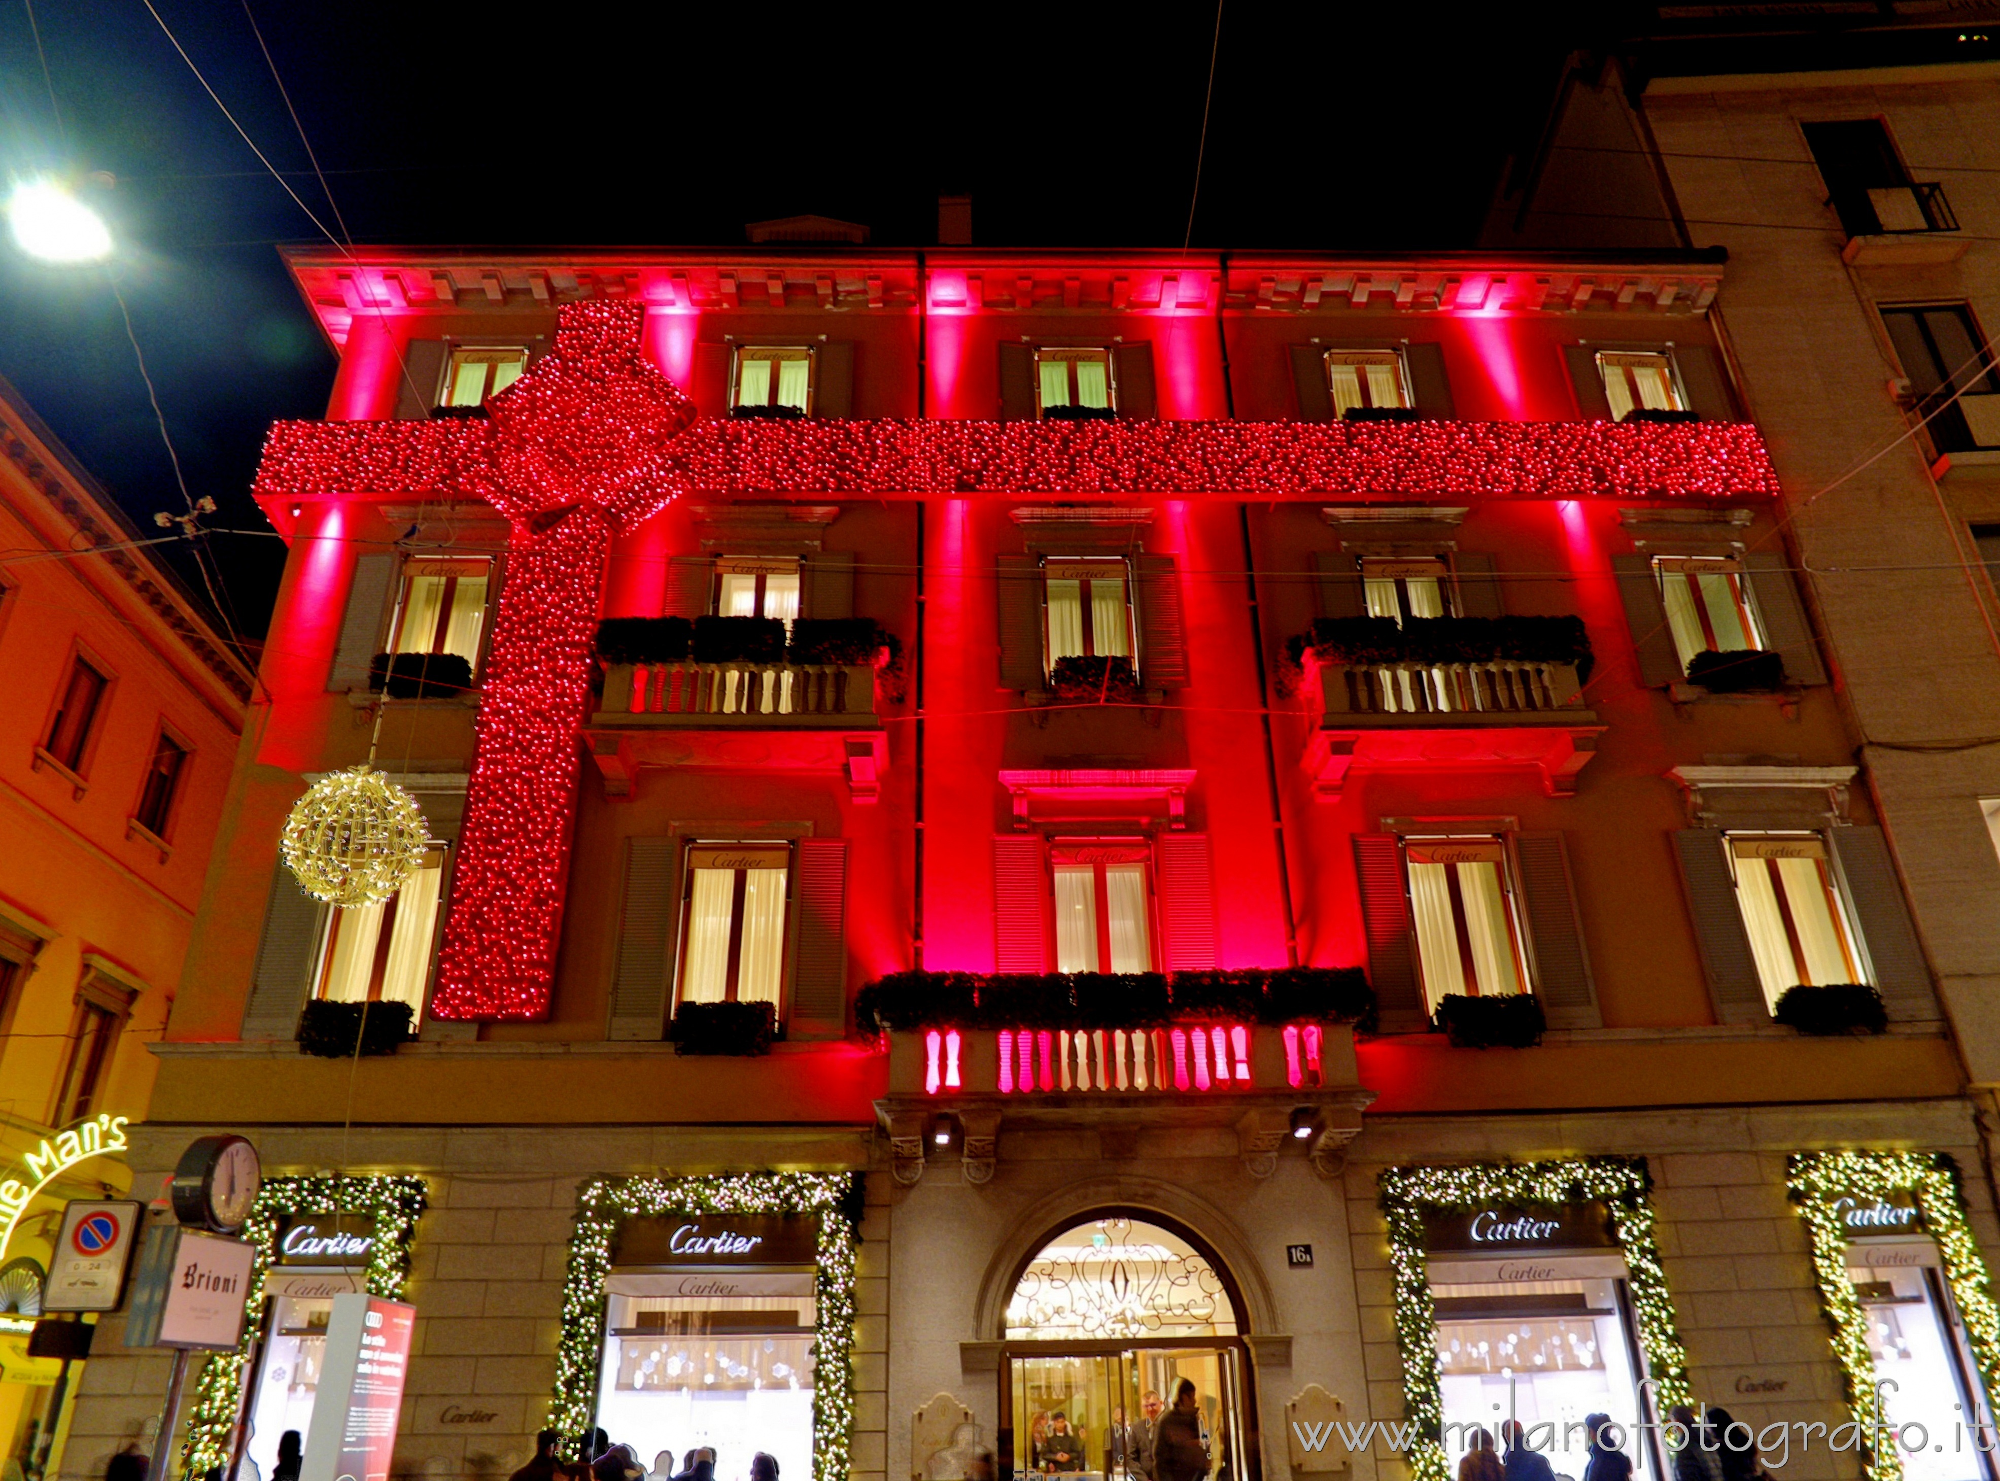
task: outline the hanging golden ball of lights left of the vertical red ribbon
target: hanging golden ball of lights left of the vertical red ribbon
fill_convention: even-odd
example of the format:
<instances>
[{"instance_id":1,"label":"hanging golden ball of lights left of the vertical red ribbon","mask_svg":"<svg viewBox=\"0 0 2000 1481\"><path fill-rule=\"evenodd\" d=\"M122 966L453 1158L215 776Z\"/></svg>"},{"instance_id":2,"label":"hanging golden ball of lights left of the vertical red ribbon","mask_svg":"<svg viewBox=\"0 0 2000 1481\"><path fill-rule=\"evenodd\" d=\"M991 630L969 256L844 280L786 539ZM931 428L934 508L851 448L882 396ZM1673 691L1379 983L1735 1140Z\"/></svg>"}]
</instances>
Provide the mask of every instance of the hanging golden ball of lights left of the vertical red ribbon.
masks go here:
<instances>
[{"instance_id":1,"label":"hanging golden ball of lights left of the vertical red ribbon","mask_svg":"<svg viewBox=\"0 0 2000 1481\"><path fill-rule=\"evenodd\" d=\"M282 849L316 901L380 905L416 873L430 825L414 797L364 763L306 789L284 821Z\"/></svg>"}]
</instances>

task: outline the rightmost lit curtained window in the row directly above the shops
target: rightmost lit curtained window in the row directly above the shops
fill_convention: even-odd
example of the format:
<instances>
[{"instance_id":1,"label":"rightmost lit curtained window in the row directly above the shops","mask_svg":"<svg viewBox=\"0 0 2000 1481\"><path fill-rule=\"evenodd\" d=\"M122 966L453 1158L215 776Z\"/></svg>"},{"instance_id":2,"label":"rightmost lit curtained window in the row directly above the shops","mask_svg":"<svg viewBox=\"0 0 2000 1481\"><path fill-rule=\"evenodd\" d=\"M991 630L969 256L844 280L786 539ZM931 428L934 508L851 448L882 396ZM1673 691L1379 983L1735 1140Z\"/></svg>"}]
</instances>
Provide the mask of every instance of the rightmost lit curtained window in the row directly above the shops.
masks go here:
<instances>
[{"instance_id":1,"label":"rightmost lit curtained window in the row directly above the shops","mask_svg":"<svg viewBox=\"0 0 2000 1481\"><path fill-rule=\"evenodd\" d=\"M1732 833L1730 867L1764 1001L1794 987L1866 983L1840 883L1816 833Z\"/></svg>"}]
</instances>

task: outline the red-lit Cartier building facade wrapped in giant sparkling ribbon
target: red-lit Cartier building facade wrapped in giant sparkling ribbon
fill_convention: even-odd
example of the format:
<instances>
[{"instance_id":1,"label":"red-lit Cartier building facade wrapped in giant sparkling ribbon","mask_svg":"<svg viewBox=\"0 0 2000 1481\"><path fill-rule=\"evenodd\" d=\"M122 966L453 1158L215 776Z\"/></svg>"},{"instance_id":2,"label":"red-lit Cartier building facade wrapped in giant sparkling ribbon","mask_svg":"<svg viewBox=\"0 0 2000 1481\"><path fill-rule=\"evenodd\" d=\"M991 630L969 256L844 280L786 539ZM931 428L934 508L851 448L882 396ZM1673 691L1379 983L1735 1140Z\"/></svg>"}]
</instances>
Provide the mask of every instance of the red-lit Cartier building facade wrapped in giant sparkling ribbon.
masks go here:
<instances>
[{"instance_id":1,"label":"red-lit Cartier building facade wrapped in giant sparkling ribbon","mask_svg":"<svg viewBox=\"0 0 2000 1481\"><path fill-rule=\"evenodd\" d=\"M398 1473L1134 1473L1182 1377L1230 1481L1986 1413L1980 1127L1720 254L290 264L340 370L132 1133L272 1179L190 1469L360 1285ZM438 843L332 913L278 835L370 757ZM302 1057L354 1003L414 1035ZM92 1363L68 1471L164 1381Z\"/></svg>"}]
</instances>

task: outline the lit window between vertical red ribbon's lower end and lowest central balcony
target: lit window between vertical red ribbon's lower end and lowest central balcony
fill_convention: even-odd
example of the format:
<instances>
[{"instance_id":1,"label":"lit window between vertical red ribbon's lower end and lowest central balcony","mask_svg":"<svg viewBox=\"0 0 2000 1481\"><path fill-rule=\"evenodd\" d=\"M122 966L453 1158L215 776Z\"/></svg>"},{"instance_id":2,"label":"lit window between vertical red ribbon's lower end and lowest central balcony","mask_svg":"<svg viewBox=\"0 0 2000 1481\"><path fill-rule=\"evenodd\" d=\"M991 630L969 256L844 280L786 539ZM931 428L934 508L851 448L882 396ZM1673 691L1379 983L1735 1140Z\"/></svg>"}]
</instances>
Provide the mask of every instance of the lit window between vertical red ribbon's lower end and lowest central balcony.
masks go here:
<instances>
[{"instance_id":1,"label":"lit window between vertical red ribbon's lower end and lowest central balcony","mask_svg":"<svg viewBox=\"0 0 2000 1481\"><path fill-rule=\"evenodd\" d=\"M792 849L784 843L688 847L680 1001L778 1003Z\"/></svg>"}]
</instances>

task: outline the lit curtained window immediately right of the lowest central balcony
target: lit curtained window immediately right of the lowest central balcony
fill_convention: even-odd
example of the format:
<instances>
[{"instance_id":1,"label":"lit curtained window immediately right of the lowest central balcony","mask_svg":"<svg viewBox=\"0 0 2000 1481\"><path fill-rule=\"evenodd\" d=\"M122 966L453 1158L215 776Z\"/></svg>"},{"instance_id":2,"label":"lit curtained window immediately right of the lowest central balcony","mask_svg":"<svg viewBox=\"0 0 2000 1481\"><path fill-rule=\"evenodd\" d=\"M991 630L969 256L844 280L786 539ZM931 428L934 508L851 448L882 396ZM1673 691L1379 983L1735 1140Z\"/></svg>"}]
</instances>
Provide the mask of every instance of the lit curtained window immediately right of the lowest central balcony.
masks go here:
<instances>
[{"instance_id":1,"label":"lit curtained window immediately right of the lowest central balcony","mask_svg":"<svg viewBox=\"0 0 2000 1481\"><path fill-rule=\"evenodd\" d=\"M1498 835L1434 835L1402 841L1410 915L1424 997L1526 993L1520 913Z\"/></svg>"}]
</instances>

